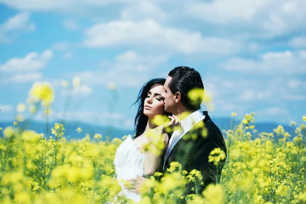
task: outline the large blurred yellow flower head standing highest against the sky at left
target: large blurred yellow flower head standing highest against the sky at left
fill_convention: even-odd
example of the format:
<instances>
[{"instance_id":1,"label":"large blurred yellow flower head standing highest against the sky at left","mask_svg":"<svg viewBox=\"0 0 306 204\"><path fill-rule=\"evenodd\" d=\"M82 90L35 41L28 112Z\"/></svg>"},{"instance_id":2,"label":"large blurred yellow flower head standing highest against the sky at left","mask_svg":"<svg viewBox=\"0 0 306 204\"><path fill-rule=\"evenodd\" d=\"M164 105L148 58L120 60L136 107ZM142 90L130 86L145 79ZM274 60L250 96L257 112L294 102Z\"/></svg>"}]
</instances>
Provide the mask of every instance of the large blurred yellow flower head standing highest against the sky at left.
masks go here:
<instances>
[{"instance_id":1,"label":"large blurred yellow flower head standing highest against the sky at left","mask_svg":"<svg viewBox=\"0 0 306 204\"><path fill-rule=\"evenodd\" d=\"M29 97L48 107L54 100L53 88L48 82L35 82L29 91Z\"/></svg>"}]
</instances>

